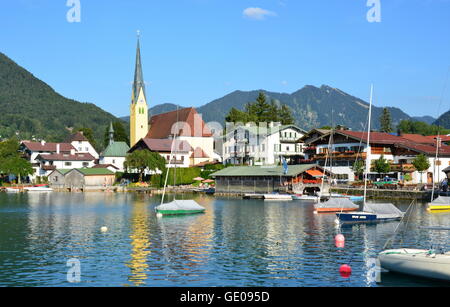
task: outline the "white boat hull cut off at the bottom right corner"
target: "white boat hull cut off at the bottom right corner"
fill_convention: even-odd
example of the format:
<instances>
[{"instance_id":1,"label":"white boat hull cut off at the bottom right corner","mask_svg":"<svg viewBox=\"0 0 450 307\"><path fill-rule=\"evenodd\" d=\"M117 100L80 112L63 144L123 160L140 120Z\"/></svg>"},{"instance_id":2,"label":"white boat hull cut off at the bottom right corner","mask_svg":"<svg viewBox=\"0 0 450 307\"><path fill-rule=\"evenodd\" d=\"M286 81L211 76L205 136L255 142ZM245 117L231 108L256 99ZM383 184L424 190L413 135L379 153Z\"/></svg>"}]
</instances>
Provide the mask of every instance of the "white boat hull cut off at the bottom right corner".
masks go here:
<instances>
[{"instance_id":1,"label":"white boat hull cut off at the bottom right corner","mask_svg":"<svg viewBox=\"0 0 450 307\"><path fill-rule=\"evenodd\" d=\"M450 253L430 254L428 250L395 249L378 255L383 269L419 277L450 281Z\"/></svg>"}]
</instances>

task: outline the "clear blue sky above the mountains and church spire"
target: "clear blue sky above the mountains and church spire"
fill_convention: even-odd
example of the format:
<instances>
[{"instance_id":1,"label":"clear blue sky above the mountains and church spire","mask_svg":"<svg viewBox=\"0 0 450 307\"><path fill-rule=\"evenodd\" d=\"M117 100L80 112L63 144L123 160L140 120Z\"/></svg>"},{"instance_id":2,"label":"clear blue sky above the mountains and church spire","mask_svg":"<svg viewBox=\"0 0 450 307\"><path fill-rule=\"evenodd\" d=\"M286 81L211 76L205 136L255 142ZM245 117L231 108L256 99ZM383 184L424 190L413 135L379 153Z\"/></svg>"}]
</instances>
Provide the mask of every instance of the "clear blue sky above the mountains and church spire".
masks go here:
<instances>
[{"instance_id":1,"label":"clear blue sky above the mountains and church spire","mask_svg":"<svg viewBox=\"0 0 450 307\"><path fill-rule=\"evenodd\" d=\"M368 101L373 83L376 106L437 117L450 109L450 0L378 1L369 22L368 0L0 0L0 52L116 116L129 114L139 30L150 107L322 84Z\"/></svg>"}]
</instances>

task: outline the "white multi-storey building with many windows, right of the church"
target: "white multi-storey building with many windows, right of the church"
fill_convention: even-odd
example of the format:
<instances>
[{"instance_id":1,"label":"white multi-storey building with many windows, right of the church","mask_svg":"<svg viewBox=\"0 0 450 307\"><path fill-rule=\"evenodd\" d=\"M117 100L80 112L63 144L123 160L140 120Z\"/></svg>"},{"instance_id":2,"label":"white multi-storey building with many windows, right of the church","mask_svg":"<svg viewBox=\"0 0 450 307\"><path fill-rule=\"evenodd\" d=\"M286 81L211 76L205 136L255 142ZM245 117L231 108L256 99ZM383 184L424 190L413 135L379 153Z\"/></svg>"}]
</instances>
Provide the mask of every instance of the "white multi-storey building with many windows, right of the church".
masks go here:
<instances>
[{"instance_id":1,"label":"white multi-storey building with many windows, right of the church","mask_svg":"<svg viewBox=\"0 0 450 307\"><path fill-rule=\"evenodd\" d=\"M223 142L224 164L275 165L284 157L290 164L303 159L305 131L295 125L270 123L227 127Z\"/></svg>"}]
</instances>

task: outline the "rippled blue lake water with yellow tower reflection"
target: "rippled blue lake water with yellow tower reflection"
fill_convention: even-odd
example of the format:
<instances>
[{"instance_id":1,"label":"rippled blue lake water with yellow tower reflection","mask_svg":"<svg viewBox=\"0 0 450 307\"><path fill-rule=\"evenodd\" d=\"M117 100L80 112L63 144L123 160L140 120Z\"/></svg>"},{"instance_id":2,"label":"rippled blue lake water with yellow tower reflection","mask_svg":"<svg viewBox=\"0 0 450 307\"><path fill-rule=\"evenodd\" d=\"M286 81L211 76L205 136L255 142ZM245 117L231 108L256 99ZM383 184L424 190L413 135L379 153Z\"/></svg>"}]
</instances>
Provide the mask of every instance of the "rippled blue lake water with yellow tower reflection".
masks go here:
<instances>
[{"instance_id":1,"label":"rippled blue lake water with yellow tower reflection","mask_svg":"<svg viewBox=\"0 0 450 307\"><path fill-rule=\"evenodd\" d=\"M314 214L312 203L183 197L206 213L158 219L160 198L142 194L0 193L0 286L448 285L391 273L372 281L371 259L398 222L344 227L337 249L335 215ZM448 247L448 233L419 229L427 225L450 226L450 213L418 206L394 247ZM67 281L72 258L81 264L76 284Z\"/></svg>"}]
</instances>

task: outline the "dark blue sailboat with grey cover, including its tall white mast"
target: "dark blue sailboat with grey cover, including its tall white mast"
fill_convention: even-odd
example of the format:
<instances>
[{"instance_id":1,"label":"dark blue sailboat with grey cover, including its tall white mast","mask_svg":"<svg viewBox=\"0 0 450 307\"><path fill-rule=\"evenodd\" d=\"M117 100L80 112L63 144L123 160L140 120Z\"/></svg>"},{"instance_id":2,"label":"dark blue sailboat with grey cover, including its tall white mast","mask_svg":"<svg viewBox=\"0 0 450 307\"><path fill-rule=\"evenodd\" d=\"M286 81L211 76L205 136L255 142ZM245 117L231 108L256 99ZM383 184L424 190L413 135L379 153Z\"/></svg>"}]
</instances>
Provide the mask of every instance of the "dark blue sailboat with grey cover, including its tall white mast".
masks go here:
<instances>
[{"instance_id":1,"label":"dark blue sailboat with grey cover, including its tall white mast","mask_svg":"<svg viewBox=\"0 0 450 307\"><path fill-rule=\"evenodd\" d=\"M373 101L373 85L370 90L369 119L367 128L367 155L366 155L366 172L364 175L364 206L363 211L352 213L337 213L337 218L341 223L358 223L358 222L383 222L401 220L404 213L391 203L367 203L367 175L370 171L370 122L372 117L372 101Z\"/></svg>"}]
</instances>

